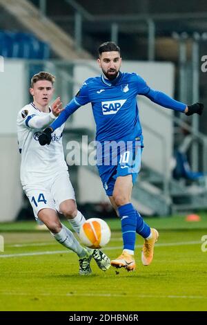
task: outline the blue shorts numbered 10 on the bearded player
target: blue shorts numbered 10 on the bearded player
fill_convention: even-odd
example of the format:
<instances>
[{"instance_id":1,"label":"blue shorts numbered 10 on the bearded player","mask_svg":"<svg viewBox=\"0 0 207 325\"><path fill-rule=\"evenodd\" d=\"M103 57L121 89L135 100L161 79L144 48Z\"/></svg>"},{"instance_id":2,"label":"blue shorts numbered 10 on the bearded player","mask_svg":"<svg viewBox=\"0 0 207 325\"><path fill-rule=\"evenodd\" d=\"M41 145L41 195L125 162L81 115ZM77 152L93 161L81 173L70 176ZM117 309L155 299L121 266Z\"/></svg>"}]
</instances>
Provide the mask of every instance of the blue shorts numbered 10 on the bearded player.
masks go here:
<instances>
[{"instance_id":1,"label":"blue shorts numbered 10 on the bearded player","mask_svg":"<svg viewBox=\"0 0 207 325\"><path fill-rule=\"evenodd\" d=\"M141 168L141 152L143 144L141 140L124 142L125 145L114 150L97 148L97 168L103 183L103 188L108 196L112 196L115 181L119 176L132 175L132 183L135 184ZM108 142L109 146L112 142ZM102 156L100 152L102 150Z\"/></svg>"}]
</instances>

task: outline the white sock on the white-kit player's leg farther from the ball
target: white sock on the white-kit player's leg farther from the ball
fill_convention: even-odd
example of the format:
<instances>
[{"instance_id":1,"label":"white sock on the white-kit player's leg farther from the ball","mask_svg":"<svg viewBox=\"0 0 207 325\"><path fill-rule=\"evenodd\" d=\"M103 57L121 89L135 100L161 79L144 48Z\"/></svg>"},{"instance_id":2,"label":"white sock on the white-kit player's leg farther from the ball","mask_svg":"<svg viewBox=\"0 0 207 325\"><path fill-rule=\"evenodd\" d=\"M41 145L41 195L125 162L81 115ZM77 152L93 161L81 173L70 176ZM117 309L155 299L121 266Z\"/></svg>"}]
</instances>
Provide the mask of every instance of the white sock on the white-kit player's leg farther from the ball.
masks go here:
<instances>
[{"instance_id":1,"label":"white sock on the white-kit player's leg farther from the ball","mask_svg":"<svg viewBox=\"0 0 207 325\"><path fill-rule=\"evenodd\" d=\"M61 245L65 246L66 248L69 248L69 250L72 250L73 252L77 253L79 257L83 257L86 255L86 250L80 245L80 243L75 238L74 234L66 228L66 226L62 225L62 229L57 234L52 234L54 238L61 243Z\"/></svg>"}]
</instances>

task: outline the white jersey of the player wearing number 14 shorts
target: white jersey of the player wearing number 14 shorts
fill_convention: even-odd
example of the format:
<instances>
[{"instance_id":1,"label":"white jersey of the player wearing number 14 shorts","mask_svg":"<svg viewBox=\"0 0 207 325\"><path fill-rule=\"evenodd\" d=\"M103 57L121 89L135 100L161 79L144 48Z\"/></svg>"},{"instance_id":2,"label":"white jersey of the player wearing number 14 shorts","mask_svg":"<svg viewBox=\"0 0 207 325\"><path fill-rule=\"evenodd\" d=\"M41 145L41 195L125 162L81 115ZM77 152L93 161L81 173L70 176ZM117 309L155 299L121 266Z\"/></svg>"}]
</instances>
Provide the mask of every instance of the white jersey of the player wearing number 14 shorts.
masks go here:
<instances>
[{"instance_id":1,"label":"white jersey of the player wearing number 14 shorts","mask_svg":"<svg viewBox=\"0 0 207 325\"><path fill-rule=\"evenodd\" d=\"M39 184L63 170L68 170L64 160L62 133L64 124L52 133L50 145L39 145L39 131L29 127L29 121L37 115L45 115L34 104L28 104L21 109L17 117L17 133L19 151L21 153L21 184Z\"/></svg>"}]
</instances>

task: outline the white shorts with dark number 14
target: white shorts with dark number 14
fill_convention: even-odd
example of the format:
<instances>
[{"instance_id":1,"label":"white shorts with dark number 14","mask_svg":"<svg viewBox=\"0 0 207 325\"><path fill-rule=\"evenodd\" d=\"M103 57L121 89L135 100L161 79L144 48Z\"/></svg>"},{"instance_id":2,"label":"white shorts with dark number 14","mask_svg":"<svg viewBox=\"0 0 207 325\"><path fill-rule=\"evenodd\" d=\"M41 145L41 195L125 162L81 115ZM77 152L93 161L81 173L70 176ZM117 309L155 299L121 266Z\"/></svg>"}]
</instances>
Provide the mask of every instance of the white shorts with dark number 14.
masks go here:
<instances>
[{"instance_id":1,"label":"white shorts with dark number 14","mask_svg":"<svg viewBox=\"0 0 207 325\"><path fill-rule=\"evenodd\" d=\"M37 185L25 185L23 190L28 196L35 219L42 209L52 209L59 212L59 205L66 200L75 200L75 192L70 183L68 171L62 171L50 181L39 182Z\"/></svg>"}]
</instances>

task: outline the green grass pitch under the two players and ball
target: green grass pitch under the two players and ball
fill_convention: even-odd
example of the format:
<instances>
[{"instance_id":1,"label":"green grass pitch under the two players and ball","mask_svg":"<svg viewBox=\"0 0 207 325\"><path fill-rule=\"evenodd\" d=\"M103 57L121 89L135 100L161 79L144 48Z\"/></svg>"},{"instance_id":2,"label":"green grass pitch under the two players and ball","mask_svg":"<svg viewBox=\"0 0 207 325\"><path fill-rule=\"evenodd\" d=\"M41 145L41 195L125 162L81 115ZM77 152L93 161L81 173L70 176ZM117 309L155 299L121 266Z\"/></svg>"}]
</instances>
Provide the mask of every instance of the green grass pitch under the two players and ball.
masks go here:
<instances>
[{"instance_id":1,"label":"green grass pitch under the two players and ball","mask_svg":"<svg viewBox=\"0 0 207 325\"><path fill-rule=\"evenodd\" d=\"M135 272L121 270L116 275L112 268L101 272L92 261L93 273L85 277L78 275L76 255L49 232L35 232L35 223L2 225L0 310L206 310L207 252L201 252L201 236L207 234L205 216L199 223L186 223L179 216L148 222L160 233L150 266L141 265L139 236ZM119 228L115 221L108 223ZM117 257L120 232L112 232L104 251Z\"/></svg>"}]
</instances>

